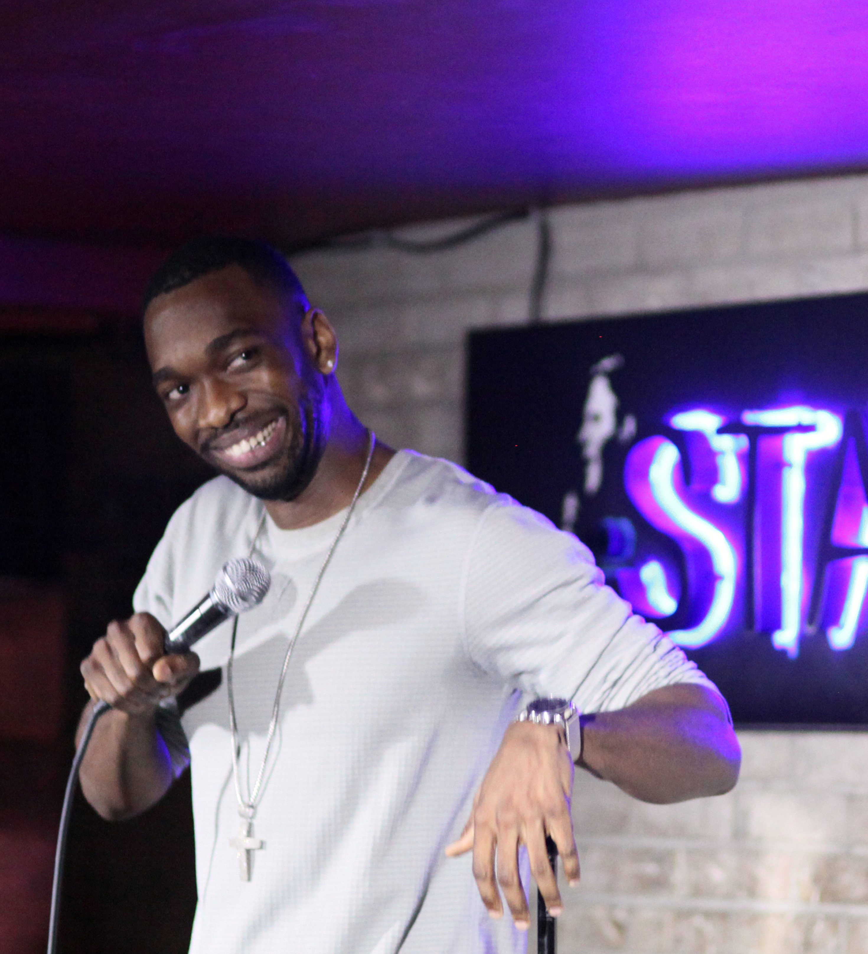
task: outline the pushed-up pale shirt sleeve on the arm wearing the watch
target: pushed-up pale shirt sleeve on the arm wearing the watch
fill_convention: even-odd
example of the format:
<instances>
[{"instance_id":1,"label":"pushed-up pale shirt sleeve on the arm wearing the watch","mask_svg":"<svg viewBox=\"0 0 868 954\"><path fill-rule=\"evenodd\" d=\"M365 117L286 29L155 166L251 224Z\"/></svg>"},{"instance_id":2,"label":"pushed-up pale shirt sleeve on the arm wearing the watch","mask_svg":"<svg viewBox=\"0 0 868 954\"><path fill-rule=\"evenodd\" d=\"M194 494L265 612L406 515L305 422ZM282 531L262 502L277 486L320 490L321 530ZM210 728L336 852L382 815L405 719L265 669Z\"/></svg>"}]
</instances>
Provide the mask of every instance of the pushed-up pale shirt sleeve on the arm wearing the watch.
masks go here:
<instances>
[{"instance_id":1,"label":"pushed-up pale shirt sleeve on the arm wearing the watch","mask_svg":"<svg viewBox=\"0 0 868 954\"><path fill-rule=\"evenodd\" d=\"M604 584L584 544L506 496L477 526L463 604L470 657L528 695L603 712L675 683L717 692L667 635Z\"/></svg>"}]
</instances>

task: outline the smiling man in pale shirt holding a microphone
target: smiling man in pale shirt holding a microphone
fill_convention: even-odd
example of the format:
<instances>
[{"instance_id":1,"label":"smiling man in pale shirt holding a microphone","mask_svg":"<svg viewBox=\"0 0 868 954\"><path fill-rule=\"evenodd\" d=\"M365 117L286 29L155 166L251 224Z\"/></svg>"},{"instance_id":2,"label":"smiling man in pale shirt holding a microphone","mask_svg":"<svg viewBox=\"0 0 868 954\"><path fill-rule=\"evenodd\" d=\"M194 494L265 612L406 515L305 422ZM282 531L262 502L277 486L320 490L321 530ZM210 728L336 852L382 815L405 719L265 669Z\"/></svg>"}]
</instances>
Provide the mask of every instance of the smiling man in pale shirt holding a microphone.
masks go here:
<instances>
[{"instance_id":1,"label":"smiling man in pale shirt holding a microphone","mask_svg":"<svg viewBox=\"0 0 868 954\"><path fill-rule=\"evenodd\" d=\"M573 536L375 441L343 400L331 324L277 253L190 243L144 326L177 435L223 476L179 508L138 612L82 664L114 709L81 783L105 818L132 816L189 742L192 951L521 950L521 846L553 914L547 833L579 878L574 759L650 801L732 788L712 684ZM262 605L164 655L164 628L244 555L271 571ZM581 731L514 721L553 696Z\"/></svg>"}]
</instances>

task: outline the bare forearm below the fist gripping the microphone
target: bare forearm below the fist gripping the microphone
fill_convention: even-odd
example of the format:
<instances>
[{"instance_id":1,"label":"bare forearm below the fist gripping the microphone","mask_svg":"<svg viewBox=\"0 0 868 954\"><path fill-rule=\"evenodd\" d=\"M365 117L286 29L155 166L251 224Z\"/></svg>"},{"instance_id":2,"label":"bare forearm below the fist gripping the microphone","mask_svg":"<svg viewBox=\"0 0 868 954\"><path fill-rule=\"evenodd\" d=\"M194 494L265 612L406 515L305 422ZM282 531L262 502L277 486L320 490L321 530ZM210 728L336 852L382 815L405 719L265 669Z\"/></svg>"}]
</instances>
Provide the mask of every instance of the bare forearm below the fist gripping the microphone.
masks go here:
<instances>
[{"instance_id":1,"label":"bare forearm below the fist gripping the microphone","mask_svg":"<svg viewBox=\"0 0 868 954\"><path fill-rule=\"evenodd\" d=\"M81 735L93 702L86 707ZM111 710L93 729L81 766L81 789L104 819L132 818L162 798L172 784L172 760L156 731L155 713L131 716Z\"/></svg>"}]
</instances>

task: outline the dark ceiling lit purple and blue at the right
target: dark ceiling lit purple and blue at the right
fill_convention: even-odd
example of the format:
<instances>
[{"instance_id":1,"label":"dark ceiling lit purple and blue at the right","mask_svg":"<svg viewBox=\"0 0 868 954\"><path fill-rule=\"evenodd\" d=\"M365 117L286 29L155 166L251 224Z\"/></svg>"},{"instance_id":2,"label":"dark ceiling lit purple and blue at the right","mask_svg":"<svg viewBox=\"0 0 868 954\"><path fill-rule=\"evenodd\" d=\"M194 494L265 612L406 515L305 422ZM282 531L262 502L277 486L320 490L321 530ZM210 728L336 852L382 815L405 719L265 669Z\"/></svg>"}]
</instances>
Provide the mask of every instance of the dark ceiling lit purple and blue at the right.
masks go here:
<instances>
[{"instance_id":1,"label":"dark ceiling lit purple and blue at the right","mask_svg":"<svg viewBox=\"0 0 868 954\"><path fill-rule=\"evenodd\" d=\"M842 0L30 0L0 10L0 234L285 247L868 164Z\"/></svg>"}]
</instances>

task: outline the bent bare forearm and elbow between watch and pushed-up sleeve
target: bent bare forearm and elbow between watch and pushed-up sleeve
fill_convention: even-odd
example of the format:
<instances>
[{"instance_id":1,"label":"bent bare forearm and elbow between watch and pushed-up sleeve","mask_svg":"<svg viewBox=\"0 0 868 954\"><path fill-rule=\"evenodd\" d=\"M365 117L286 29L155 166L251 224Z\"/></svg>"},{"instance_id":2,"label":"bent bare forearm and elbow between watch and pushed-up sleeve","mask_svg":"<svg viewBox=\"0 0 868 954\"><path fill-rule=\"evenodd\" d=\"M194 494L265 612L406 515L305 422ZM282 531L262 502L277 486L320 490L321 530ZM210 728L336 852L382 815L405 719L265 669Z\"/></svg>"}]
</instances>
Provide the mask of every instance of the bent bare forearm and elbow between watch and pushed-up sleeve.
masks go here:
<instances>
[{"instance_id":1,"label":"bent bare forearm and elbow between watch and pushed-up sleeve","mask_svg":"<svg viewBox=\"0 0 868 954\"><path fill-rule=\"evenodd\" d=\"M720 701L701 686L658 689L583 723L580 764L634 798L722 795L738 778L738 740Z\"/></svg>"}]
</instances>

